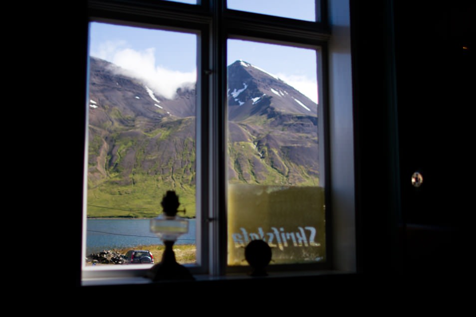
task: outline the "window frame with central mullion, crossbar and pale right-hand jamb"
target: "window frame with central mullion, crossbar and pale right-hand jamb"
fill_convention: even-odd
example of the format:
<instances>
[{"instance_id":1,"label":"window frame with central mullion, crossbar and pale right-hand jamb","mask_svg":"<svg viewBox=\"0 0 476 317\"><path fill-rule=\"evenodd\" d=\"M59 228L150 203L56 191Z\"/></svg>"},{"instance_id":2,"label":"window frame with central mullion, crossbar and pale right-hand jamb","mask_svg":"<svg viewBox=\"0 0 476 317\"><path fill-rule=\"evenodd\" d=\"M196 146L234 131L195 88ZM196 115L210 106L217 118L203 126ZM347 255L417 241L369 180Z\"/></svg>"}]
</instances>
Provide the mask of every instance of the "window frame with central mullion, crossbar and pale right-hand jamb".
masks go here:
<instances>
[{"instance_id":1,"label":"window frame with central mullion, crossbar and pale right-hand jamb","mask_svg":"<svg viewBox=\"0 0 476 317\"><path fill-rule=\"evenodd\" d=\"M319 65L322 66L319 67L319 83L322 83L319 85L319 98L324 104L327 103L325 188L326 210L330 211L326 214L326 243L330 265L325 271L305 273L300 265L290 266L283 274L356 272L349 1L328 0L321 3L316 0L316 7L327 13L321 15L321 22L229 10L226 8L226 0L202 0L200 5L152 0L141 1L141 4L133 0L88 1L90 21L122 20L122 23L133 26L157 25L174 30L197 29L200 33L197 51L197 126L200 128L197 129L197 144L202 141L202 146L197 147L197 173L201 173L202 178L210 181L197 183L197 197L206 197L197 199L197 205L200 204L201 208L201 211L197 212L197 224L202 224L205 229L200 231L200 226L197 225L200 234L197 241L197 259L201 259L201 262L197 266L188 266L197 279L230 278L231 273L226 263L228 179L223 172L226 162L226 140L223 136L226 135L227 122L227 111L223 105L226 104L226 40L229 36L267 38L276 43L298 42L300 45L320 47L323 56L322 65ZM87 158L87 146L84 151ZM201 165L200 162L204 164ZM83 192L87 192L86 188L83 188ZM85 203L84 196L86 195L83 194ZM84 236L85 232L83 239ZM81 284L87 286L129 283L130 279L135 279L134 283L147 283L146 279L137 280L144 276L144 273L144 269L83 270Z\"/></svg>"}]
</instances>

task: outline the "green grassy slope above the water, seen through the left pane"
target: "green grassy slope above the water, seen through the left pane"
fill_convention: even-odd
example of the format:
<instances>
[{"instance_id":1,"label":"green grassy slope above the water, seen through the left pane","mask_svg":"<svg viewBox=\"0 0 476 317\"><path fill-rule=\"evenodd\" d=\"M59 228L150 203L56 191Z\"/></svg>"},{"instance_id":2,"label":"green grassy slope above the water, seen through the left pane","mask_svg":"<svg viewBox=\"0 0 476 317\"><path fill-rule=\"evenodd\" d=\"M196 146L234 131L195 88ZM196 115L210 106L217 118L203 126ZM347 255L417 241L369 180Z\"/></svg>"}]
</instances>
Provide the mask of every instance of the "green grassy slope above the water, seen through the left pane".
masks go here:
<instances>
[{"instance_id":1,"label":"green grassy slope above the water, seen through the left pane","mask_svg":"<svg viewBox=\"0 0 476 317\"><path fill-rule=\"evenodd\" d=\"M186 120L166 122L165 127L144 133L134 140L120 137L120 133L112 134L111 139L114 139L117 149L113 160L105 155L108 152L106 142L96 135L89 143L88 217L155 217L162 212L160 202L167 190L175 190L179 195L179 210L186 210L181 215L194 217L195 186L190 185L195 177L192 167L195 161L194 141L188 138L173 140L176 144L180 143L179 146L183 145L184 151L179 159L188 162L180 170L174 170L176 167L171 159L159 166L161 160L157 155L160 153L150 153L146 148L153 140L160 148L161 142L170 140L169 136L180 132L185 124ZM158 138L154 139L156 136ZM127 162L131 154L134 157L132 167ZM160 173L163 169L170 172ZM104 170L107 175L99 170ZM186 173L186 170L189 172ZM90 176L93 174L95 177Z\"/></svg>"}]
</instances>

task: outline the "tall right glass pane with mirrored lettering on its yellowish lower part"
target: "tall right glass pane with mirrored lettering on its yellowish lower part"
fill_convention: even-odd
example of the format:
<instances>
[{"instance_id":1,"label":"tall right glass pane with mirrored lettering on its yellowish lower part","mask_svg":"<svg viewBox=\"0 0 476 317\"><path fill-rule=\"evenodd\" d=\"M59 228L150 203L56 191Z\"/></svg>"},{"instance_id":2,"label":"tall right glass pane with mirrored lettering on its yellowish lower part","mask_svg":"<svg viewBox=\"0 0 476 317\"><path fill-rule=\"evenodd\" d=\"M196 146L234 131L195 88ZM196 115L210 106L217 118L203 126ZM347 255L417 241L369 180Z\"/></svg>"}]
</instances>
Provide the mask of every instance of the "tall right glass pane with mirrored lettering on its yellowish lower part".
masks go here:
<instances>
[{"instance_id":1,"label":"tall right glass pane with mirrored lettering on its yellowish lower part","mask_svg":"<svg viewBox=\"0 0 476 317\"><path fill-rule=\"evenodd\" d=\"M228 40L228 264L263 240L272 264L325 261L317 53Z\"/></svg>"}]
</instances>

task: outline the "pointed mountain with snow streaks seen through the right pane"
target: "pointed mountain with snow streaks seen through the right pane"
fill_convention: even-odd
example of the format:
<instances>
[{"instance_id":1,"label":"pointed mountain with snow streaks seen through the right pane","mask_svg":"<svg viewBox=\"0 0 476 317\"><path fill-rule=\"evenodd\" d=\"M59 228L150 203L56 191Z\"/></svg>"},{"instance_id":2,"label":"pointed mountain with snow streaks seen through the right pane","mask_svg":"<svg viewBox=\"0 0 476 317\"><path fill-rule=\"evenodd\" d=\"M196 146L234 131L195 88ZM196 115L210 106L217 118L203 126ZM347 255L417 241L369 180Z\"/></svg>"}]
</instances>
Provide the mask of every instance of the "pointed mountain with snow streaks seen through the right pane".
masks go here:
<instances>
[{"instance_id":1,"label":"pointed mountain with snow streaks seen through the right pane","mask_svg":"<svg viewBox=\"0 0 476 317\"><path fill-rule=\"evenodd\" d=\"M229 179L317 185L317 105L266 71L228 66Z\"/></svg>"}]
</instances>

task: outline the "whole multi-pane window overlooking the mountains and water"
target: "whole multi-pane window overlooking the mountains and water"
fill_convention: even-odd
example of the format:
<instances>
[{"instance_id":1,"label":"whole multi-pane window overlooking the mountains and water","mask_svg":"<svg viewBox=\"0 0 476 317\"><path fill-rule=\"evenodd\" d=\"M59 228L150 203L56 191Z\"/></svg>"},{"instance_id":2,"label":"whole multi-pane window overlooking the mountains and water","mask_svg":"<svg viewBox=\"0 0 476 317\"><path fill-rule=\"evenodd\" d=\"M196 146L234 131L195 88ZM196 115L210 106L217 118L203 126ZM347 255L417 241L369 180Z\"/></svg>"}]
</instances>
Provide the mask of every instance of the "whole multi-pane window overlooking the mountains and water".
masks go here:
<instances>
[{"instance_id":1,"label":"whole multi-pane window overlooking the mountains and water","mask_svg":"<svg viewBox=\"0 0 476 317\"><path fill-rule=\"evenodd\" d=\"M89 5L83 256L88 253L88 238L111 233L92 229L88 216L144 218L147 223L162 211L164 190L173 189L185 216L193 217L192 236L181 238L192 241L184 245L195 247L193 261L184 262L194 274L217 277L249 271L243 265L243 250L253 239L266 241L276 251L270 271L352 269L354 260L345 263L348 259L338 256L341 246L348 248L349 239L353 243L342 234L353 226L353 187L339 171L347 165L349 172L352 153L340 161L331 156L342 154L342 143L349 140L349 135L344 140L333 137L336 120L351 118L349 99L338 104L333 93L349 89L350 77L328 76L333 63L343 57L331 54L337 42L328 31L327 1L311 1L318 14L310 20L281 18L273 12L257 12L258 19L255 12L237 11L241 8L233 7L233 1L227 7L225 0L197 5L100 2ZM100 28L103 32L96 32ZM102 46L97 44L96 36L108 28L113 30L109 38L101 39ZM111 45L111 34L121 42ZM118 47L122 50L113 50ZM109 56L114 65L93 53ZM163 54L160 61L156 54ZM173 68L176 61L167 61L167 56L181 63ZM134 64L136 57L146 63ZM345 61L349 60L347 55ZM92 73L99 62L109 67ZM112 86L100 92L98 78L111 79L111 69L122 77L112 76ZM166 81L154 86L151 78L164 74ZM175 75L181 80L175 82ZM343 78L346 85L333 85ZM164 86L173 84L177 85L172 92L165 92ZM125 98L134 109L118 108ZM100 116L92 115L99 109ZM352 148L351 143L344 146ZM330 182L331 175L335 182ZM340 184L347 193L334 203L332 189ZM257 208L251 208L252 203ZM345 210L339 209L342 203ZM266 215L250 216L262 210ZM119 224L110 226L117 229ZM124 230L119 233L122 240L145 235L134 233L143 228L127 225ZM143 250L161 244L152 233L149 236L155 242L134 247ZM344 253L352 258L352 252ZM160 256L153 256L158 263ZM138 276L151 265L99 267L85 262L83 280Z\"/></svg>"}]
</instances>

